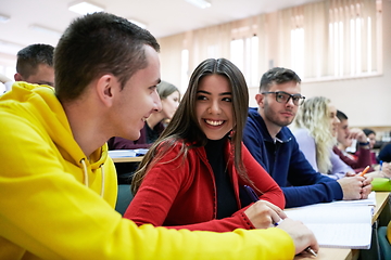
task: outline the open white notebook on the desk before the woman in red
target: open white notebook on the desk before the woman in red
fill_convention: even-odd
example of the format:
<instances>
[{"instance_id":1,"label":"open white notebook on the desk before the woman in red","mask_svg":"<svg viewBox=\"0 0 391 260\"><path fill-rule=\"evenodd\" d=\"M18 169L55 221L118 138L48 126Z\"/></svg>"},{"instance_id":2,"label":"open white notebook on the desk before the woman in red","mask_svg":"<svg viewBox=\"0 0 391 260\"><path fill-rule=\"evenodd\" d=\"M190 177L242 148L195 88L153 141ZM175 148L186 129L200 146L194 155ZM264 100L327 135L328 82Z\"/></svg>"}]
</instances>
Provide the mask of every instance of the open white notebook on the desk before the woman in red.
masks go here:
<instances>
[{"instance_id":1,"label":"open white notebook on the desk before the woman in red","mask_svg":"<svg viewBox=\"0 0 391 260\"><path fill-rule=\"evenodd\" d=\"M285 210L315 234L320 247L368 249L371 238L373 206L368 204L316 204ZM341 207L343 206L343 207Z\"/></svg>"}]
</instances>

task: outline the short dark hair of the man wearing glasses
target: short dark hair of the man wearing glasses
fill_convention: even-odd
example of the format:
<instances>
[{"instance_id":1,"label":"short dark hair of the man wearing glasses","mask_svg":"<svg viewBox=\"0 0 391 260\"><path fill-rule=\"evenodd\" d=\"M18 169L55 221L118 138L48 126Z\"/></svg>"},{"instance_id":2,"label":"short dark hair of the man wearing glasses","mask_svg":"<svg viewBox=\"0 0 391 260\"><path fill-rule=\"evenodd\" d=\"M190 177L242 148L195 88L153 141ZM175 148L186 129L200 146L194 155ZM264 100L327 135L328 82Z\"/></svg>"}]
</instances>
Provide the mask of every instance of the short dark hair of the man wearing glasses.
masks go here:
<instances>
[{"instance_id":1,"label":"short dark hair of the man wearing glasses","mask_svg":"<svg viewBox=\"0 0 391 260\"><path fill-rule=\"evenodd\" d=\"M294 81L301 83L300 77L289 68L274 67L267 70L261 78L260 92L267 91L273 83L285 83Z\"/></svg>"}]
</instances>

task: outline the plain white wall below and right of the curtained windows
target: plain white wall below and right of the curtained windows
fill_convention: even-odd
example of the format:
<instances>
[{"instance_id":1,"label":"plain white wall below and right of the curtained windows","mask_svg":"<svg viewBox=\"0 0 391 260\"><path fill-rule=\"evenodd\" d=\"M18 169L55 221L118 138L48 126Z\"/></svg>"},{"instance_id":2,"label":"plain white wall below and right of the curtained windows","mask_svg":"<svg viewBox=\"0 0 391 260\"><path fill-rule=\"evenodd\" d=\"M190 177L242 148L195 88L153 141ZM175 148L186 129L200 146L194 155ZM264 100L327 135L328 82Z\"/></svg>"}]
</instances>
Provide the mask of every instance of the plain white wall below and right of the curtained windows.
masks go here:
<instances>
[{"instance_id":1,"label":"plain white wall below and right of the curtained windows","mask_svg":"<svg viewBox=\"0 0 391 260\"><path fill-rule=\"evenodd\" d=\"M306 98L324 95L344 112L353 127L391 130L391 1L382 1L382 75L343 80L302 83ZM250 105L256 106L257 88L250 88Z\"/></svg>"}]
</instances>

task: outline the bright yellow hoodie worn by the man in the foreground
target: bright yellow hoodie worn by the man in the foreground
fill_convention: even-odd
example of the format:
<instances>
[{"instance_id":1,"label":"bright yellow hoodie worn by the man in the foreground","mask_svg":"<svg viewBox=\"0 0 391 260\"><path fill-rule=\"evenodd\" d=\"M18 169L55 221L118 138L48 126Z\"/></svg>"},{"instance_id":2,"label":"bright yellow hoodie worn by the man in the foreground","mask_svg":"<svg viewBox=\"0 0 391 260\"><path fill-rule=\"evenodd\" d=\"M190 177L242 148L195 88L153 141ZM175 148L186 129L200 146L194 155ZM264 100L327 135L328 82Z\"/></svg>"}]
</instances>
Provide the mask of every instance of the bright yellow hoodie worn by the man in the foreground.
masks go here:
<instances>
[{"instance_id":1,"label":"bright yellow hoodie worn by the man in the foreground","mask_svg":"<svg viewBox=\"0 0 391 260\"><path fill-rule=\"evenodd\" d=\"M0 259L292 259L280 229L229 233L138 227L115 206L106 145L87 159L50 87L0 98Z\"/></svg>"}]
</instances>

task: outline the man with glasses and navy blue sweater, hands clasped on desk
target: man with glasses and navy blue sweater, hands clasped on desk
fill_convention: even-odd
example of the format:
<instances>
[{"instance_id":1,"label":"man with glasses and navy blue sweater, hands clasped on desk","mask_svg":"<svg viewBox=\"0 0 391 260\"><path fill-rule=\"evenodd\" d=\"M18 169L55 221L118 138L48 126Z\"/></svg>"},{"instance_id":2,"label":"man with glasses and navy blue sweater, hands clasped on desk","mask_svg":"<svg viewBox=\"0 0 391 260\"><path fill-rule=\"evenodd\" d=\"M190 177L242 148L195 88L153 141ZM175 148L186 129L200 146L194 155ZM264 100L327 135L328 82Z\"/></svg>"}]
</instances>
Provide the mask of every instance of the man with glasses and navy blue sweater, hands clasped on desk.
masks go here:
<instances>
[{"instance_id":1,"label":"man with glasses and navy blue sweater, hands clasped on desk","mask_svg":"<svg viewBox=\"0 0 391 260\"><path fill-rule=\"evenodd\" d=\"M243 142L253 157L281 186L287 208L340 199L357 199L353 178L338 181L316 172L299 148L289 126L304 102L301 79L291 69L275 67L261 79L258 107L249 109Z\"/></svg>"}]
</instances>

